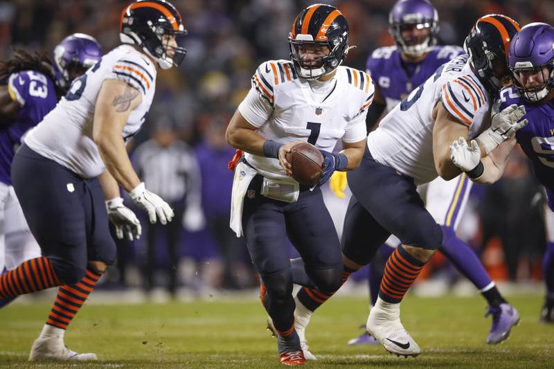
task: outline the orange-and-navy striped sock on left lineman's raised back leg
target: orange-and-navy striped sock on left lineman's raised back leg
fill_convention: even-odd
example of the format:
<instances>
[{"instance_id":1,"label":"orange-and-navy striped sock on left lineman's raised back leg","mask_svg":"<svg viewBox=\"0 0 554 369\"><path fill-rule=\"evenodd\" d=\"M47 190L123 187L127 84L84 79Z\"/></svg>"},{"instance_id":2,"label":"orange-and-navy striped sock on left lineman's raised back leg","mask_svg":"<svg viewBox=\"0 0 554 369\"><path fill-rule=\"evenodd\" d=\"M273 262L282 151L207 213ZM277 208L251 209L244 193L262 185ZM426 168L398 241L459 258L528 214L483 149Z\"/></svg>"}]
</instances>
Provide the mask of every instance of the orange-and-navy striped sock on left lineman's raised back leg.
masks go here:
<instances>
[{"instance_id":1,"label":"orange-and-navy striped sock on left lineman's raised back leg","mask_svg":"<svg viewBox=\"0 0 554 369\"><path fill-rule=\"evenodd\" d=\"M50 260L41 256L26 260L0 276L0 299L30 294L61 284Z\"/></svg>"}]
</instances>

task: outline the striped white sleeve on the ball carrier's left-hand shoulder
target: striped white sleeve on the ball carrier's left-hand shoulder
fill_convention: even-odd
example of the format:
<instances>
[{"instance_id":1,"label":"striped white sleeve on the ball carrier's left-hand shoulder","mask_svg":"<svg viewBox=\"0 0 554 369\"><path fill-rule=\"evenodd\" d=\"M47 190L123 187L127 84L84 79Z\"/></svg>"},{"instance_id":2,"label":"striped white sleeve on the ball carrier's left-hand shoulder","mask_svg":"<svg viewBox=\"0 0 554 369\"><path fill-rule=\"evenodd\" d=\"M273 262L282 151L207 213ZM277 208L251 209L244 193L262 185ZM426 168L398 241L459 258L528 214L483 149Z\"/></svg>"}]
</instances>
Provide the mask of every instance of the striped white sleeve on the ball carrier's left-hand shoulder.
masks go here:
<instances>
[{"instance_id":1,"label":"striped white sleeve on the ball carrier's left-hand shoulder","mask_svg":"<svg viewBox=\"0 0 554 369\"><path fill-rule=\"evenodd\" d=\"M274 86L269 62L262 63L252 76L252 87L238 111L254 127L261 127L274 111ZM266 72L267 71L267 72Z\"/></svg>"}]
</instances>

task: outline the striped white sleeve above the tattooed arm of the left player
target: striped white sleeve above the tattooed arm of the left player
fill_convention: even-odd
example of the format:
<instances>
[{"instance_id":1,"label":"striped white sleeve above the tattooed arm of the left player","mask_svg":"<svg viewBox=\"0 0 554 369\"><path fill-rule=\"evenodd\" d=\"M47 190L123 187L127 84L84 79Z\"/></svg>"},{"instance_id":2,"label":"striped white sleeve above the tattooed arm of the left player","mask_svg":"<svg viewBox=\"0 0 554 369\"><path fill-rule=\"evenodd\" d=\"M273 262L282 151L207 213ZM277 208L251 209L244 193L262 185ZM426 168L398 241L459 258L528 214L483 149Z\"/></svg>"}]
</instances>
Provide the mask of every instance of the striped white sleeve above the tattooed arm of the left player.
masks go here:
<instances>
[{"instance_id":1,"label":"striped white sleeve above the tattooed arm of the left player","mask_svg":"<svg viewBox=\"0 0 554 369\"><path fill-rule=\"evenodd\" d=\"M127 53L114 64L106 79L122 80L145 95L154 84L156 72L152 69L139 53Z\"/></svg>"}]
</instances>

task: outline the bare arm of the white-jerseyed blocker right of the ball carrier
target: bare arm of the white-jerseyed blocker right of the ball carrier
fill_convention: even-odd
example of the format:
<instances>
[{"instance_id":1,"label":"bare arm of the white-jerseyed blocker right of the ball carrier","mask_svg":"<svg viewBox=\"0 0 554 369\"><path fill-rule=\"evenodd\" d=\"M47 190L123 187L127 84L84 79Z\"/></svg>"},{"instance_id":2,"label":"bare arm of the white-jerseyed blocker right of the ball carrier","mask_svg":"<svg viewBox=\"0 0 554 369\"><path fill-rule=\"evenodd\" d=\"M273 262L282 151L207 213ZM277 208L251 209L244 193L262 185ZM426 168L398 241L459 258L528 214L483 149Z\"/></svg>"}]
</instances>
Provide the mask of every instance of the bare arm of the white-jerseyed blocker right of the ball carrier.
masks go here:
<instances>
[{"instance_id":1,"label":"bare arm of the white-jerseyed blocker right of the ball carrier","mask_svg":"<svg viewBox=\"0 0 554 369\"><path fill-rule=\"evenodd\" d=\"M461 174L458 168L450 159L449 147L452 141L459 137L465 137L467 140L467 126L454 118L443 103L438 101L433 109L433 119L435 125L433 128L433 157L435 168L438 175L449 181Z\"/></svg>"}]
</instances>

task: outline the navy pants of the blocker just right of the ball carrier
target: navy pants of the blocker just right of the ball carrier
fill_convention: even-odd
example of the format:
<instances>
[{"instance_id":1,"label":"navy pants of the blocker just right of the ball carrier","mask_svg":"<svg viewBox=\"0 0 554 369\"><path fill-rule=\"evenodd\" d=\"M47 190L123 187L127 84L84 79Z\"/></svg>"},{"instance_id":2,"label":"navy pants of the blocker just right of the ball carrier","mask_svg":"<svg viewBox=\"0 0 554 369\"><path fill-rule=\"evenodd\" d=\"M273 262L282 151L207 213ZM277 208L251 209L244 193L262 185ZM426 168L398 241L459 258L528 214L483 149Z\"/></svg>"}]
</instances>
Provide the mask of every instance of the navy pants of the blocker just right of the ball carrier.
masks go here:
<instances>
[{"instance_id":1,"label":"navy pants of the blocker just right of the ball carrier","mask_svg":"<svg viewBox=\"0 0 554 369\"><path fill-rule=\"evenodd\" d=\"M366 265L389 235L402 244L436 250L443 231L416 191L411 177L377 163L368 148L357 170L348 172L352 197L341 244L346 258Z\"/></svg>"}]
</instances>

